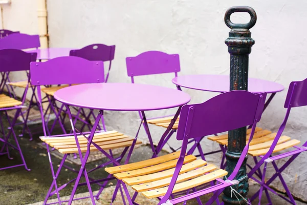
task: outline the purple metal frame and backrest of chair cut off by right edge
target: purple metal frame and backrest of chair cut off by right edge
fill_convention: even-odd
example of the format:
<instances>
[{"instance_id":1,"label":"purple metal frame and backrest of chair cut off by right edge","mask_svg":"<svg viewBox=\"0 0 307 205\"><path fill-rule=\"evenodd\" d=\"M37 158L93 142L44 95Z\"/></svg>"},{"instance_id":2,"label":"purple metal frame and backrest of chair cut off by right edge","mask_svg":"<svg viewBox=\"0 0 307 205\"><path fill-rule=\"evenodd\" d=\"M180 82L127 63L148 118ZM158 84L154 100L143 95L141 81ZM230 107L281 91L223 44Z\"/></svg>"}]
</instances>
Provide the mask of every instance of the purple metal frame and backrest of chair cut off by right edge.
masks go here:
<instances>
[{"instance_id":1,"label":"purple metal frame and backrest of chair cut off by right edge","mask_svg":"<svg viewBox=\"0 0 307 205\"><path fill-rule=\"evenodd\" d=\"M282 135L282 132L284 131L284 128L286 127L291 108L301 107L301 106L307 105L306 92L307 92L307 78L302 80L302 81L293 81L290 84L288 94L287 94L287 98L286 98L286 101L284 102L284 108L287 108L286 116L284 117L284 120L283 120L281 126L279 127L279 130L276 134L276 137L274 138L274 141L272 143L272 146L270 147L269 151L265 155L259 156L260 157L259 161L258 161L257 157L254 157L255 166L254 167L250 166L251 171L248 173L248 177L254 179L260 185L260 190L251 197L251 201L255 200L258 196L259 204L260 204L262 192L265 191L266 196L268 198L268 201L272 204L272 200L271 200L269 192L268 192L268 191L271 191L273 194L280 196L281 198L288 201L289 203L296 204L296 202L295 202L295 200L294 200L294 198L293 198L293 196L292 196L292 194L291 194L291 192L290 192L290 190L289 190L289 188L286 184L286 181L283 179L281 173L284 169L286 169L291 164L291 162L300 153L307 151L307 147L306 147L307 141L301 147L294 146L293 148L295 148L295 150L288 151L286 153L282 153L282 154L278 154L278 155L274 155L274 156L272 156L272 153L275 149L275 146L277 145L277 142L278 142L280 136ZM284 163L283 166L278 168L275 161L278 160L278 159L281 159L281 158L285 158L285 157L290 157L290 159L288 159L286 161L286 163ZM267 170L268 163L272 163L276 173L269 180L266 181L265 177L266 177L266 170ZM260 167L262 165L264 165L264 169L261 172ZM258 176L259 179L255 178L253 175ZM286 194L287 194L288 198L284 197L280 193L277 193L275 190L273 190L272 188L269 187L269 185L272 183L272 181L275 180L277 177L281 181L284 190L286 190Z\"/></svg>"}]
</instances>

